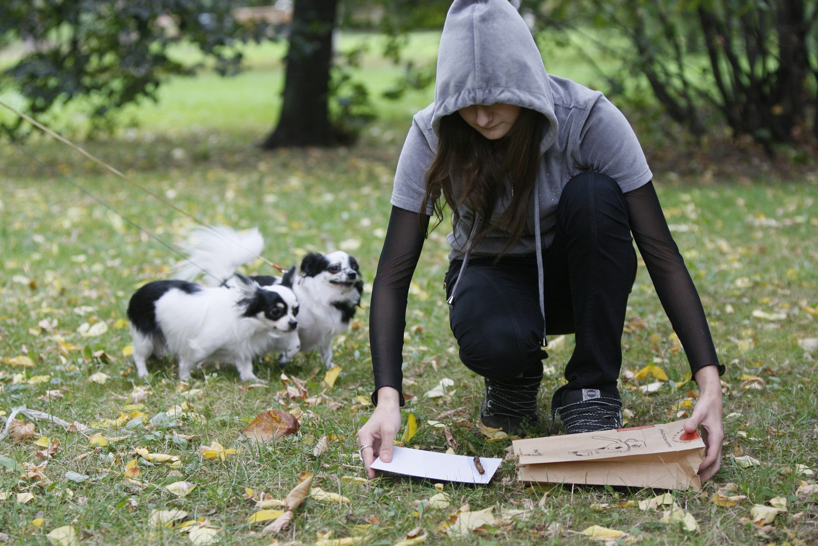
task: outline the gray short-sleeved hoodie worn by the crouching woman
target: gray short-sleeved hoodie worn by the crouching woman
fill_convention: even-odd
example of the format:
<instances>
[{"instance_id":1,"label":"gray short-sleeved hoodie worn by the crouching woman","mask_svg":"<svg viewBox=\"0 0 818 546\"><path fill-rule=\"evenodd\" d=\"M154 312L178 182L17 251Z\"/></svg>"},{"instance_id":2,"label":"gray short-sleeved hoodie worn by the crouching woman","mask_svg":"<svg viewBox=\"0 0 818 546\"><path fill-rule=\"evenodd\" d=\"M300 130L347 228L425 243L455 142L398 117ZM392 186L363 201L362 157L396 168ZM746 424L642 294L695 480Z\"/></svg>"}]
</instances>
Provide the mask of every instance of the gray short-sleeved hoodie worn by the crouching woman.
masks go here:
<instances>
[{"instance_id":1,"label":"gray short-sleeved hoodie worn by the crouching woman","mask_svg":"<svg viewBox=\"0 0 818 546\"><path fill-rule=\"evenodd\" d=\"M440 119L465 106L497 102L531 108L548 120L537 174L539 228L545 248L554 240L562 188L575 174L607 174L619 183L622 192L653 178L622 112L602 93L546 74L528 27L508 0L456 0L440 38L434 102L412 120L398 160L392 204L432 214L434 201L424 203L424 196L426 173L438 147ZM534 201L529 204L524 235L507 250L508 255L535 254ZM460 213L456 232L448 236L450 259L462 255L474 223L470 210ZM497 255L508 237L504 229L495 228L470 254Z\"/></svg>"}]
</instances>

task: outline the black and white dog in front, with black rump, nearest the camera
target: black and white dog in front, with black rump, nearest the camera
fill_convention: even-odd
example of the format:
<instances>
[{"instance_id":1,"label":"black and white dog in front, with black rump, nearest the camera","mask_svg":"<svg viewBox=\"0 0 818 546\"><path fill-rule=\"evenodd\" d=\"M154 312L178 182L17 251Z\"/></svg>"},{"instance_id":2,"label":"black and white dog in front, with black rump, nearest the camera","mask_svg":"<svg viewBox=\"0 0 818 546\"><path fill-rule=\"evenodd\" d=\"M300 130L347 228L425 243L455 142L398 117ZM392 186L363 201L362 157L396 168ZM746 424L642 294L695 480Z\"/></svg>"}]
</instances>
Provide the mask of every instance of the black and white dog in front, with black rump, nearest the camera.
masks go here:
<instances>
[{"instance_id":1,"label":"black and white dog in front, with black rump, nearest the camera","mask_svg":"<svg viewBox=\"0 0 818 546\"><path fill-rule=\"evenodd\" d=\"M200 363L218 361L235 364L242 381L258 381L253 359L272 350L291 359L301 347L294 276L293 267L274 287L260 287L238 274L229 286L219 287L149 282L128 304L139 377L147 376L151 355L170 354L179 361L181 380L189 379Z\"/></svg>"}]
</instances>

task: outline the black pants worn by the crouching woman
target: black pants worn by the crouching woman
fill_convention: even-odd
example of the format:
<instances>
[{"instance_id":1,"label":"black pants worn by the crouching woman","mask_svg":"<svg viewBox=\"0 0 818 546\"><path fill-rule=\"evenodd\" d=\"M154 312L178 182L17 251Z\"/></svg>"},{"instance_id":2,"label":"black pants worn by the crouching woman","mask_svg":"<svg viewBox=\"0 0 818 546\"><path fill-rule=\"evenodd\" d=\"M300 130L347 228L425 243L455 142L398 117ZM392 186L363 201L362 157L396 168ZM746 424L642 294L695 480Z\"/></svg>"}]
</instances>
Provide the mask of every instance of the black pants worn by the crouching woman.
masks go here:
<instances>
[{"instance_id":1,"label":"black pants worn by the crouching woman","mask_svg":"<svg viewBox=\"0 0 818 546\"><path fill-rule=\"evenodd\" d=\"M636 279L627 205L616 181L582 173L566 184L557 208L553 244L542 253L546 332L575 333L565 368L569 381L552 399L560 407L567 389L595 388L618 398L622 328ZM446 275L451 291L462 261ZM449 313L467 368L501 381L542 378L542 314L535 256L472 257ZM447 297L449 294L447 293Z\"/></svg>"}]
</instances>

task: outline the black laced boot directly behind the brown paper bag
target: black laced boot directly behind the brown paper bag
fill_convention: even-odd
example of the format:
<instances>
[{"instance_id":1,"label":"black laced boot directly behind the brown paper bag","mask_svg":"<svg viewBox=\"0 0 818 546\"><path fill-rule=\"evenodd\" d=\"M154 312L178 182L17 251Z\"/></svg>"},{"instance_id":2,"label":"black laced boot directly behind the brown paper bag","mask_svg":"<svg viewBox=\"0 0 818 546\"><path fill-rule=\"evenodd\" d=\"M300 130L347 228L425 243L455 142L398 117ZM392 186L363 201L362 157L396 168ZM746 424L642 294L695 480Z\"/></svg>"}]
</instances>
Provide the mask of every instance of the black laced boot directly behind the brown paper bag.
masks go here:
<instances>
[{"instance_id":1,"label":"black laced boot directly behind the brown paper bag","mask_svg":"<svg viewBox=\"0 0 818 546\"><path fill-rule=\"evenodd\" d=\"M551 418L560 414L565 434L622 428L622 402L605 394L598 389L566 390L562 404L551 409Z\"/></svg>"}]
</instances>

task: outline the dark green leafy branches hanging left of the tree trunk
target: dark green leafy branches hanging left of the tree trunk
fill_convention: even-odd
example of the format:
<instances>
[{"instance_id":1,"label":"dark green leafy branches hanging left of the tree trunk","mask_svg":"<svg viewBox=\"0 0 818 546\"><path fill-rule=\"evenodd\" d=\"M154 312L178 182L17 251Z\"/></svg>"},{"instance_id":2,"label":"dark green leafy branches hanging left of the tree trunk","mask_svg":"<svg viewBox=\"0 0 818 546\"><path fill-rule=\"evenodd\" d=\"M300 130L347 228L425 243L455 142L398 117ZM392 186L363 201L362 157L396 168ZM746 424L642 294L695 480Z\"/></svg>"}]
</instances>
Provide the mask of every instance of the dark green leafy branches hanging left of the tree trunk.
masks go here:
<instances>
[{"instance_id":1,"label":"dark green leafy branches hanging left of the tree trunk","mask_svg":"<svg viewBox=\"0 0 818 546\"><path fill-rule=\"evenodd\" d=\"M38 116L83 98L92 132L111 129L119 109L156 99L160 84L196 66L169 56L176 44L195 45L220 74L235 74L238 44L259 40L266 25L238 25L229 0L6 0L0 3L0 47L22 43L19 61L0 76L25 110ZM19 133L20 122L3 125Z\"/></svg>"}]
</instances>

